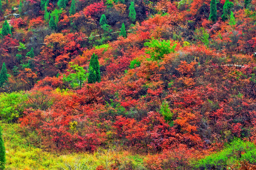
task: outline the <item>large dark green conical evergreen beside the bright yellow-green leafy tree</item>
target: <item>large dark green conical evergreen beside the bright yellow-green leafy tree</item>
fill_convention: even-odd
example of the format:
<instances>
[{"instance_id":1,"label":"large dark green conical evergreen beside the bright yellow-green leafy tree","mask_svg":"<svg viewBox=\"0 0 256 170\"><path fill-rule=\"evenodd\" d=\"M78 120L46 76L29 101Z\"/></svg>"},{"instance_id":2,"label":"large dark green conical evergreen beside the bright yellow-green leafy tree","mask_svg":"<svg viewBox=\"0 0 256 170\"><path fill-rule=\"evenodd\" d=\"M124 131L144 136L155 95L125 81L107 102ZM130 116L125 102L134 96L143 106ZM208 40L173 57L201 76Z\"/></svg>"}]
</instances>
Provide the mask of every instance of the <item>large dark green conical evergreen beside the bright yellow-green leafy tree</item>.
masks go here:
<instances>
[{"instance_id":1,"label":"large dark green conical evergreen beside the bright yellow-green leafy tree","mask_svg":"<svg viewBox=\"0 0 256 170\"><path fill-rule=\"evenodd\" d=\"M101 81L100 66L98 56L94 53L91 56L89 64L88 83L95 83Z\"/></svg>"}]
</instances>

